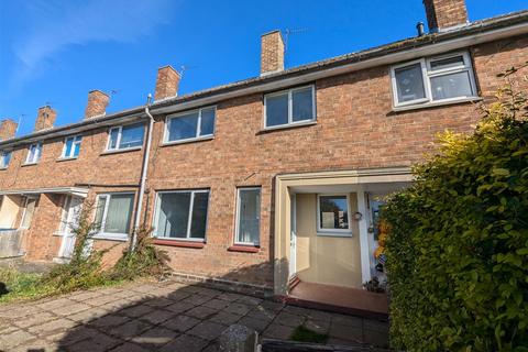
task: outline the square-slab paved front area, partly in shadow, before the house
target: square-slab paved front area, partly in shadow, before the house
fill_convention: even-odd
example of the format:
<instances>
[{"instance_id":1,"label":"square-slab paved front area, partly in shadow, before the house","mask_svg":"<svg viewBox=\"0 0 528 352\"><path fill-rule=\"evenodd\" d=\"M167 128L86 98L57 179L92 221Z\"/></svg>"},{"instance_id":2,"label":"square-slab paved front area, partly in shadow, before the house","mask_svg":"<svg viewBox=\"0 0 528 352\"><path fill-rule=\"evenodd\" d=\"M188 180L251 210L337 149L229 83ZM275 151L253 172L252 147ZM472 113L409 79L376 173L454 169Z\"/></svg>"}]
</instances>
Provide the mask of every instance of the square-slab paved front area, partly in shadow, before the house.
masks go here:
<instances>
[{"instance_id":1,"label":"square-slab paved front area, partly in shadow, before the house","mask_svg":"<svg viewBox=\"0 0 528 352\"><path fill-rule=\"evenodd\" d=\"M174 280L130 283L0 306L0 351L217 351L232 323L288 339L299 324L329 344L385 346L387 323Z\"/></svg>"}]
</instances>

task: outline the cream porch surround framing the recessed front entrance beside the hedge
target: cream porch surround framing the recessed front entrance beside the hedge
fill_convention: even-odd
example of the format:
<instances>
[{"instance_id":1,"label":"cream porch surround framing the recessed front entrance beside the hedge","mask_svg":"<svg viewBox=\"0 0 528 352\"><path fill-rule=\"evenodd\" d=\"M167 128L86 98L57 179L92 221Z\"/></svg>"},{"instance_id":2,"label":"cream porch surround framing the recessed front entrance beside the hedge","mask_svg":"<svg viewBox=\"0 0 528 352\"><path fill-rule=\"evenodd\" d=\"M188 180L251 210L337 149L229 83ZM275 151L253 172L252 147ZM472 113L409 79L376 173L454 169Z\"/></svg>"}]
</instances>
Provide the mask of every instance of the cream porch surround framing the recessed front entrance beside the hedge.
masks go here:
<instances>
[{"instance_id":1,"label":"cream porch surround framing the recessed front entrance beside the hedge","mask_svg":"<svg viewBox=\"0 0 528 352\"><path fill-rule=\"evenodd\" d=\"M356 194L356 210L362 215L356 219L361 272L359 280L371 279L369 249L367 197L370 194L388 194L410 185L413 175L409 167L354 169L276 176L275 183L275 295L288 294L290 267L290 232L293 226L292 197L301 194ZM294 198L295 199L295 198ZM295 213L295 211L294 211ZM315 222L315 221L314 221ZM332 255L332 253L328 253ZM295 263L296 261L294 261ZM294 264L295 266L295 264Z\"/></svg>"}]
</instances>

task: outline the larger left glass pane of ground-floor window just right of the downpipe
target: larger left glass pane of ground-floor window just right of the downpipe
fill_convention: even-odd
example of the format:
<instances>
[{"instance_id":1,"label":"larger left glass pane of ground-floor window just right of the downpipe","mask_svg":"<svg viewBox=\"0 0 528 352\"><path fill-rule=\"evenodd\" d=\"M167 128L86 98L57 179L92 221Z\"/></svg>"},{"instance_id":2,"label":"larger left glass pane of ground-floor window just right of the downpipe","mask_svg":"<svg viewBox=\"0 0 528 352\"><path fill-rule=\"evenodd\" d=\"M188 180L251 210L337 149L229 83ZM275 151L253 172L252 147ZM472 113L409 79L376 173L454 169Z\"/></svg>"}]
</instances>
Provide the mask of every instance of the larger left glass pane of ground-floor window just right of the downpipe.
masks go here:
<instances>
[{"instance_id":1,"label":"larger left glass pane of ground-floor window just right of the downpipe","mask_svg":"<svg viewBox=\"0 0 528 352\"><path fill-rule=\"evenodd\" d=\"M190 193L160 195L160 216L156 233L165 238L187 238Z\"/></svg>"}]
</instances>

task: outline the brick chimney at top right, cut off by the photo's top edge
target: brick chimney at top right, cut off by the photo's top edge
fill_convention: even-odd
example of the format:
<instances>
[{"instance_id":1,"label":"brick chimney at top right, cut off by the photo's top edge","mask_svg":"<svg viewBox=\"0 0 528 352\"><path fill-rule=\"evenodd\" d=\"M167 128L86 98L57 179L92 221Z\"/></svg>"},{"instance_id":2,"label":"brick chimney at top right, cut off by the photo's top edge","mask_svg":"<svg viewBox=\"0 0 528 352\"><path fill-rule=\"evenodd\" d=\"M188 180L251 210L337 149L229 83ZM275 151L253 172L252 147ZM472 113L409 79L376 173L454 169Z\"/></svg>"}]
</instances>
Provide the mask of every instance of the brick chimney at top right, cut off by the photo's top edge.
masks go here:
<instances>
[{"instance_id":1,"label":"brick chimney at top right, cut off by the photo's top edge","mask_svg":"<svg viewBox=\"0 0 528 352\"><path fill-rule=\"evenodd\" d=\"M429 32L441 32L468 23L464 0L424 0Z\"/></svg>"}]
</instances>

